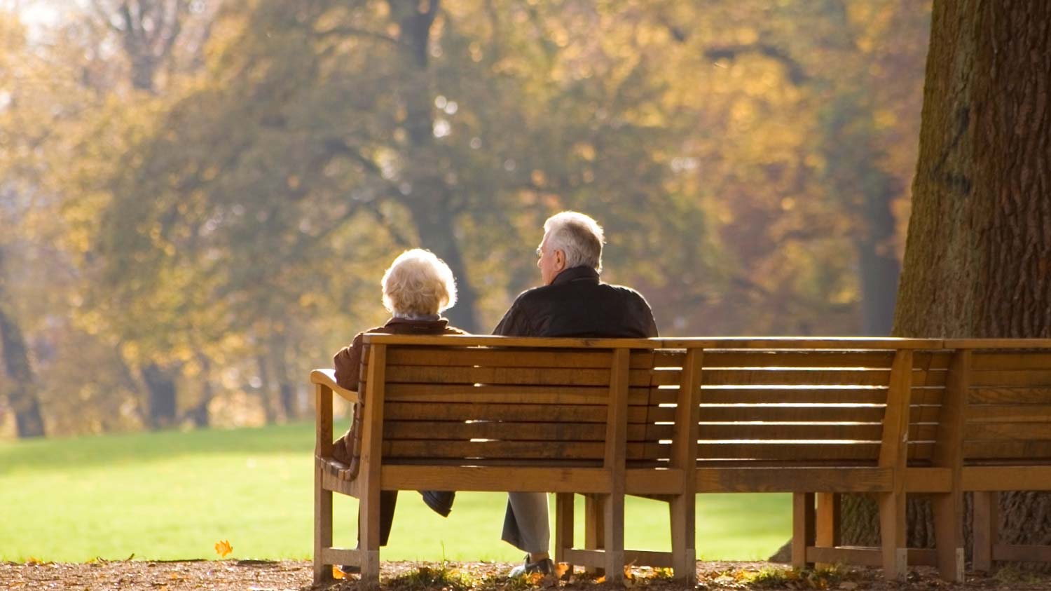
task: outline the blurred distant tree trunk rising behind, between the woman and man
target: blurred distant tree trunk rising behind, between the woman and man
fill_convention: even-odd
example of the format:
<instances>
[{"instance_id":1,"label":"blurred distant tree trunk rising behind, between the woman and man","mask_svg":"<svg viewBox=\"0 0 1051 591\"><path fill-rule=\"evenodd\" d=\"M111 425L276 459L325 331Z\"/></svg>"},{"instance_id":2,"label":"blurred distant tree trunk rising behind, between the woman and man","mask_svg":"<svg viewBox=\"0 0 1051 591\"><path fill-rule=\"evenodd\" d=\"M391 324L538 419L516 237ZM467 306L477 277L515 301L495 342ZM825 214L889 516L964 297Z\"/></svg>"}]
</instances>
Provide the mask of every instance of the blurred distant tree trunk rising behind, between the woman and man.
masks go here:
<instances>
[{"instance_id":1,"label":"blurred distant tree trunk rising behind, between the woman and man","mask_svg":"<svg viewBox=\"0 0 1051 591\"><path fill-rule=\"evenodd\" d=\"M438 0L403 2L388 0L391 16L398 23L403 42L404 74L398 95L404 103L405 128L409 138L406 161L409 208L420 246L440 257L456 277L457 304L447 315L452 324L469 331L478 329L475 315L477 295L463 264L455 233L453 203L445 180L442 150L434 142L433 93L428 72L431 27L438 13Z\"/></svg>"}]
</instances>

